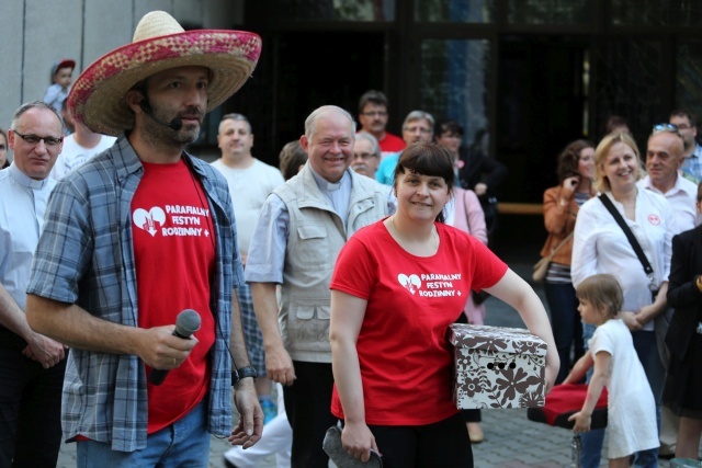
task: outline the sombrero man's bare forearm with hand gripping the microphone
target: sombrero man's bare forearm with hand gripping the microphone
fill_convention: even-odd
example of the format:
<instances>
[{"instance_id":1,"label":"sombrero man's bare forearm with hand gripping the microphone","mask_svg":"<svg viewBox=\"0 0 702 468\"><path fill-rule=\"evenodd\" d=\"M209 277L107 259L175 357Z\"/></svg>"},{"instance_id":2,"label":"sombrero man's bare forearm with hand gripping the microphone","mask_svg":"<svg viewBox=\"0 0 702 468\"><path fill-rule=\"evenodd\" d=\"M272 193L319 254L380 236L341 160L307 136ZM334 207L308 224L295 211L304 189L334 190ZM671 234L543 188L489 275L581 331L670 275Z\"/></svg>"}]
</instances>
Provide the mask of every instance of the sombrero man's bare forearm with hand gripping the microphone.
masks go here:
<instances>
[{"instance_id":1,"label":"sombrero man's bare forearm with hand gripping the microphone","mask_svg":"<svg viewBox=\"0 0 702 468\"><path fill-rule=\"evenodd\" d=\"M37 333L70 347L98 353L135 354L157 369L178 367L197 340L173 336L176 326L141 329L100 319L75 304L27 294L26 320Z\"/></svg>"}]
</instances>

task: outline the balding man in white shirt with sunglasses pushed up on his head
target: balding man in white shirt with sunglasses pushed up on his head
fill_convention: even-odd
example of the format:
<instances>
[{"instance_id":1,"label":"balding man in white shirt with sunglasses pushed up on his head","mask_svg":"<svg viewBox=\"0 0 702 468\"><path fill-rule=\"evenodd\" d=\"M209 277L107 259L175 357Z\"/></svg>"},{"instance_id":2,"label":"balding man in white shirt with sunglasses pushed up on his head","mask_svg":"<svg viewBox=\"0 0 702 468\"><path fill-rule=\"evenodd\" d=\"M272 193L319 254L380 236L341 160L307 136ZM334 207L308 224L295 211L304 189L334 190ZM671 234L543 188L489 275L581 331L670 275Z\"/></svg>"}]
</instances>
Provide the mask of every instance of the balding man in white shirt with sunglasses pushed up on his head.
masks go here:
<instances>
[{"instance_id":1,"label":"balding man in white shirt with sunglasses pushed up on his head","mask_svg":"<svg viewBox=\"0 0 702 468\"><path fill-rule=\"evenodd\" d=\"M683 139L680 132L672 127L669 129L661 127L648 138L646 150L648 175L637 182L641 189L650 190L666 197L675 212L679 232L692 229L698 224L695 222L698 187L678 172L683 160Z\"/></svg>"}]
</instances>

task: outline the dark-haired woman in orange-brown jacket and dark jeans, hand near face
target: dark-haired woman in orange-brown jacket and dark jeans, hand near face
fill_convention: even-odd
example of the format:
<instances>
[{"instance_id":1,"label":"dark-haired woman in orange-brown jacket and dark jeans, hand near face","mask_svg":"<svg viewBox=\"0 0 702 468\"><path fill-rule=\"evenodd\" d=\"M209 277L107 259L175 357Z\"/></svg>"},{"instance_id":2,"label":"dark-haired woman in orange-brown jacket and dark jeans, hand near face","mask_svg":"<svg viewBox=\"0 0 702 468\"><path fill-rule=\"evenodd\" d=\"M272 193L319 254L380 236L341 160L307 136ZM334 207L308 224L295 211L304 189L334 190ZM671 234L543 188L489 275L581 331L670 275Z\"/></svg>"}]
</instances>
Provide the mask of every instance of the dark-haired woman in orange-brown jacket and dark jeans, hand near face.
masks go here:
<instances>
[{"instance_id":1,"label":"dark-haired woman in orange-brown jacket and dark jeans, hand near face","mask_svg":"<svg viewBox=\"0 0 702 468\"><path fill-rule=\"evenodd\" d=\"M561 357L557 385L568 376L573 364L585 354L578 298L570 279L570 253L571 232L578 210L595 195L595 145L582 139L570 142L558 156L556 173L561 183L544 192L544 224L548 238L541 250L541 256L547 256L554 249L558 249L548 265L544 284L553 335Z\"/></svg>"}]
</instances>

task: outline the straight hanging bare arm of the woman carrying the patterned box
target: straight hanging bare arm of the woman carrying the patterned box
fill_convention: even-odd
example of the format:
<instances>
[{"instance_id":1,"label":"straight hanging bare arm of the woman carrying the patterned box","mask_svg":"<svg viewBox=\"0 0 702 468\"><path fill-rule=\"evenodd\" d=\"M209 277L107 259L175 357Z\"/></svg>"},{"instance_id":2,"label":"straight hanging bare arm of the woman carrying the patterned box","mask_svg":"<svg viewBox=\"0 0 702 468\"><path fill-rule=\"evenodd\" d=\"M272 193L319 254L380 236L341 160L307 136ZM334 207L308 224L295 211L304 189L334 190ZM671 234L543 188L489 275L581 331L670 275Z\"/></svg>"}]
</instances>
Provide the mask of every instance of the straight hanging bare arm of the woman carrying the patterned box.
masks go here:
<instances>
[{"instance_id":1,"label":"straight hanging bare arm of the woman carrying the patterned box","mask_svg":"<svg viewBox=\"0 0 702 468\"><path fill-rule=\"evenodd\" d=\"M341 433L343 449L363 461L377 452L375 437L365 424L363 384L355 343L365 317L366 300L340 290L331 290L331 368L343 408L344 426Z\"/></svg>"}]
</instances>

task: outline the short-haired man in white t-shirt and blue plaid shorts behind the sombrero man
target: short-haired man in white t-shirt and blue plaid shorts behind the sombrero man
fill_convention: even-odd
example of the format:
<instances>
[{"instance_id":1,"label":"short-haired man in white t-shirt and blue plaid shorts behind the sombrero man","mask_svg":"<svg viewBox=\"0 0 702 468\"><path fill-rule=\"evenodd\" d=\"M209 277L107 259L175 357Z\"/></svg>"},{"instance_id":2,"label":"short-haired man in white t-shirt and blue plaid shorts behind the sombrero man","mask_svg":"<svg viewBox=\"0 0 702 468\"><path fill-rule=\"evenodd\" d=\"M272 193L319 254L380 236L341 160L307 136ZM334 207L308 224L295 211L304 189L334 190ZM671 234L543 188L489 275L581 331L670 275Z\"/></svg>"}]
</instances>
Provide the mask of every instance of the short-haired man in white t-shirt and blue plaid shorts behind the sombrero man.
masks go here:
<instances>
[{"instance_id":1,"label":"short-haired man in white t-shirt and blue plaid shorts behind the sombrero man","mask_svg":"<svg viewBox=\"0 0 702 468\"><path fill-rule=\"evenodd\" d=\"M217 142L222 150L222 157L212 165L222 172L229 184L234 215L237 219L239 253L246 269L249 244L253 228L259 220L261 206L271 192L285 181L281 171L261 162L251 155L253 133L251 124L244 115L227 114L223 117L219 123ZM240 286L237 289L237 296L241 306L244 336L249 350L249 358L258 372L256 391L265 415L264 422L268 423L278 413L275 403L271 399L272 381L265 375L263 338L253 312L251 286L248 284Z\"/></svg>"}]
</instances>

